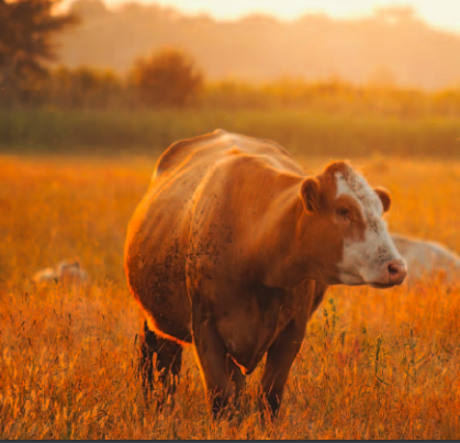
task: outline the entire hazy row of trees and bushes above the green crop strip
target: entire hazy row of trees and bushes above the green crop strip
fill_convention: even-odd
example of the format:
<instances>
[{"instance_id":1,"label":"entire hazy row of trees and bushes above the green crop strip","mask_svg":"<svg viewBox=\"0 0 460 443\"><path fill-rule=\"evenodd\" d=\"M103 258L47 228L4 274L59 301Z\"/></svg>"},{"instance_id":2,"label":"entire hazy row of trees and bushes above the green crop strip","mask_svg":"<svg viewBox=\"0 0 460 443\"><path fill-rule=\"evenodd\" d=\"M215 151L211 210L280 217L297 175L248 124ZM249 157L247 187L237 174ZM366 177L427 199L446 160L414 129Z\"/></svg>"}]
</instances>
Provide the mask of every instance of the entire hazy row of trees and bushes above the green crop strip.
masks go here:
<instances>
[{"instance_id":1,"label":"entire hazy row of trees and bushes above the green crop strip","mask_svg":"<svg viewBox=\"0 0 460 443\"><path fill-rule=\"evenodd\" d=\"M56 36L78 25L75 12L55 13L58 0L0 0L0 107L59 109L304 107L325 112L402 117L460 114L460 89L436 92L399 88L381 69L367 85L330 78L268 84L206 81L193 58L166 47L135 60L125 76L91 67L51 68Z\"/></svg>"}]
</instances>

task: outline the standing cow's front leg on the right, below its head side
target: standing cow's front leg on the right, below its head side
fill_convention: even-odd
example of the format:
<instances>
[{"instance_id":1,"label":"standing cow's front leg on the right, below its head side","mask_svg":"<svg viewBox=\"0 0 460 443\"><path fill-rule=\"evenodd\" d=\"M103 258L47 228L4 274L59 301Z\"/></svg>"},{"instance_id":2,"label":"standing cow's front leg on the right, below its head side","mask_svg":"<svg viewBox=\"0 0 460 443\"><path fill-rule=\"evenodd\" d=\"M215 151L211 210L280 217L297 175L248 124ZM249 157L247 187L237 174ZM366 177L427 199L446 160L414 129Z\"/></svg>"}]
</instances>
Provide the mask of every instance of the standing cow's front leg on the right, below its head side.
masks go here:
<instances>
[{"instance_id":1,"label":"standing cow's front leg on the right, below its head side","mask_svg":"<svg viewBox=\"0 0 460 443\"><path fill-rule=\"evenodd\" d=\"M292 320L267 352L261 380L260 408L273 420L280 409L288 375L305 333L306 320Z\"/></svg>"}]
</instances>

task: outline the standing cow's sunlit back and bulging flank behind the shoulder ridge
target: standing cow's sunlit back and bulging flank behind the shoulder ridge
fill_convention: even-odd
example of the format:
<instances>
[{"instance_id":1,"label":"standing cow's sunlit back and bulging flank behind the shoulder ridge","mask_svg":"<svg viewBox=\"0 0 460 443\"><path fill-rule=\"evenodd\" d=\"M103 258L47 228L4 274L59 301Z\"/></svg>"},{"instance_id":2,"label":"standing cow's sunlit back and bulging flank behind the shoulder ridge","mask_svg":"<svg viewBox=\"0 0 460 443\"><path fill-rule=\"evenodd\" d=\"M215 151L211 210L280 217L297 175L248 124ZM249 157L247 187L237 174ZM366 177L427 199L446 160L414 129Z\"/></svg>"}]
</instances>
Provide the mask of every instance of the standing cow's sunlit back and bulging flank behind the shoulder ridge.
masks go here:
<instances>
[{"instance_id":1,"label":"standing cow's sunlit back and bulging flank behind the shoulder ridge","mask_svg":"<svg viewBox=\"0 0 460 443\"><path fill-rule=\"evenodd\" d=\"M128 225L128 285L146 311L150 328L180 341L190 341L186 262L195 191L217 169L217 174L222 169L225 175L225 164L233 162L235 154L256 158L272 169L302 174L287 151L274 142L221 130L180 141L159 158L147 193Z\"/></svg>"}]
</instances>

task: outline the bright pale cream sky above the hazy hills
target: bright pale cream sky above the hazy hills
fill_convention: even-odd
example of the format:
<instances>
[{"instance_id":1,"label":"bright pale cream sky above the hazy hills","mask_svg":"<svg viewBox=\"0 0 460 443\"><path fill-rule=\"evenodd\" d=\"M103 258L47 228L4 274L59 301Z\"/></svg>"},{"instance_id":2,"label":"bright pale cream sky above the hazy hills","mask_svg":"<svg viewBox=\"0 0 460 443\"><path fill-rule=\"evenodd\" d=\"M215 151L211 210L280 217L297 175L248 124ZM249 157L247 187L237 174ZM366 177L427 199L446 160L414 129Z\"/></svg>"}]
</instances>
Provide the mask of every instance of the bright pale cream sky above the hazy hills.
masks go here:
<instances>
[{"instance_id":1,"label":"bright pale cream sky above the hazy hills","mask_svg":"<svg viewBox=\"0 0 460 443\"><path fill-rule=\"evenodd\" d=\"M67 0L70 1L70 0ZM124 0L104 0L116 5ZM295 19L308 12L324 12L334 18L370 15L374 8L411 5L417 15L436 27L460 33L460 0L135 0L171 5L187 13L205 12L216 19L237 19L263 12L281 19Z\"/></svg>"}]
</instances>

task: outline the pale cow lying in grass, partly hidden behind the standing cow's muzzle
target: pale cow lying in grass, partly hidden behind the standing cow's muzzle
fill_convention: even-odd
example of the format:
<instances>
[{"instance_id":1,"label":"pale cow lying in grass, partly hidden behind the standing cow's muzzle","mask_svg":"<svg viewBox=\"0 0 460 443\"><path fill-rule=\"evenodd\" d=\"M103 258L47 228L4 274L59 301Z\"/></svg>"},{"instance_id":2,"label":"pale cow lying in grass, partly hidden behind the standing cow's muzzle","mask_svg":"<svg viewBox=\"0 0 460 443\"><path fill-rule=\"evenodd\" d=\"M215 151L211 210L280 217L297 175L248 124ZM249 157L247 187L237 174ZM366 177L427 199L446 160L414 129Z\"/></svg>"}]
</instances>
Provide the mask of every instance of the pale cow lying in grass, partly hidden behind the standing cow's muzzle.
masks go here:
<instances>
[{"instance_id":1,"label":"pale cow lying in grass, partly hidden behind the standing cow's muzzle","mask_svg":"<svg viewBox=\"0 0 460 443\"><path fill-rule=\"evenodd\" d=\"M460 257L446 246L401 234L392 234L391 237L407 264L411 280L444 272L447 281L458 281Z\"/></svg>"}]
</instances>

